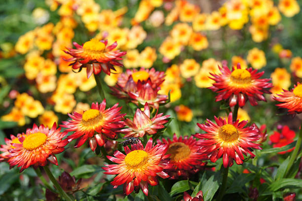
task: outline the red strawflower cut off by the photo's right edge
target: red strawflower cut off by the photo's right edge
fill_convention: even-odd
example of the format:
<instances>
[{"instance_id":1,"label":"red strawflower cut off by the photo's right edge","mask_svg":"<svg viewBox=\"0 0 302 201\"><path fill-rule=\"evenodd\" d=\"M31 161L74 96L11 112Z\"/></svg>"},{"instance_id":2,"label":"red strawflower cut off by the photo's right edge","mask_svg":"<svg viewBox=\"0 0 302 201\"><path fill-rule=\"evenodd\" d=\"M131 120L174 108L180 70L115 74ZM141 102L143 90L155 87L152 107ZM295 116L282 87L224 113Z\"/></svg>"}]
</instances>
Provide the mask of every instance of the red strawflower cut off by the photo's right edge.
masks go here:
<instances>
[{"instance_id":1,"label":"red strawflower cut off by the photo's right edge","mask_svg":"<svg viewBox=\"0 0 302 201\"><path fill-rule=\"evenodd\" d=\"M283 102L276 104L280 108L288 109L289 114L302 112L302 84L297 83L290 91L283 89L283 92L273 97L274 100Z\"/></svg>"}]
</instances>

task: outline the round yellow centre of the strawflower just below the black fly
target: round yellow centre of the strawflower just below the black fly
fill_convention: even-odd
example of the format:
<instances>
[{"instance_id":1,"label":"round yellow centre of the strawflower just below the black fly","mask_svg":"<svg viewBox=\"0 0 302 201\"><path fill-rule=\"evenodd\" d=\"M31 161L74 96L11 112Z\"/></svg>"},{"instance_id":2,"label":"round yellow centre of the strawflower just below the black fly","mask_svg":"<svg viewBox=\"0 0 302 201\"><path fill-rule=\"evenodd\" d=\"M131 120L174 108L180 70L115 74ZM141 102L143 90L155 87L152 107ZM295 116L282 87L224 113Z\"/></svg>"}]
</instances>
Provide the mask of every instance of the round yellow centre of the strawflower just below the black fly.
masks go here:
<instances>
[{"instance_id":1,"label":"round yellow centre of the strawflower just below the black fly","mask_svg":"<svg viewBox=\"0 0 302 201\"><path fill-rule=\"evenodd\" d=\"M143 150L135 150L127 154L125 163L132 169L137 169L144 166L148 161L148 153Z\"/></svg>"}]
</instances>

